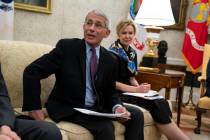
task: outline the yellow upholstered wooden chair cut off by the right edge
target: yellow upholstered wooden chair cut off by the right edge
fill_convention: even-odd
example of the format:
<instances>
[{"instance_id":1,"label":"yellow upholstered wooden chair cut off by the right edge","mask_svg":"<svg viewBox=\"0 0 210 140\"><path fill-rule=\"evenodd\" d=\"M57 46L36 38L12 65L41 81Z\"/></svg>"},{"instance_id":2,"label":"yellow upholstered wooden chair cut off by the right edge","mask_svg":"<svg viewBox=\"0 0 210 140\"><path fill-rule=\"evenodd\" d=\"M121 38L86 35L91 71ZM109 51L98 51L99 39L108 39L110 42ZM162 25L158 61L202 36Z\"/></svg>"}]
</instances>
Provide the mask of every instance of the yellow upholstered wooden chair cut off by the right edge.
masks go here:
<instances>
[{"instance_id":1,"label":"yellow upholstered wooden chair cut off by the right edge","mask_svg":"<svg viewBox=\"0 0 210 140\"><path fill-rule=\"evenodd\" d=\"M210 44L205 44L204 52L203 52L203 64L202 64L202 71L201 76L198 77L198 81L200 81L200 99L198 101L196 107L196 115L197 115L197 127L194 129L196 134L200 134L200 127L201 127L201 117L202 113L205 113L207 110L210 110L210 97L204 96L206 91L206 75L207 75L207 64L210 59Z\"/></svg>"}]
</instances>

